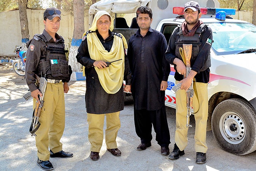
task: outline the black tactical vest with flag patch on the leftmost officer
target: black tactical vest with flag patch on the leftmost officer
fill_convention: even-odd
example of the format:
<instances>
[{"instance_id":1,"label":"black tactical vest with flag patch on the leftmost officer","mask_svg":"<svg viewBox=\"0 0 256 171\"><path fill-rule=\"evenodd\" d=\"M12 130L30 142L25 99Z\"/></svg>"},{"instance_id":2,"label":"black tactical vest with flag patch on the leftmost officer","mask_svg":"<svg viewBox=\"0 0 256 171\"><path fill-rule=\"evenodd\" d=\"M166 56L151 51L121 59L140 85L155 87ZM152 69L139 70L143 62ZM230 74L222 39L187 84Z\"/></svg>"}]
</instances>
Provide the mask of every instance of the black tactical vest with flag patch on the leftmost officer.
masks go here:
<instances>
[{"instance_id":1,"label":"black tactical vest with flag patch on the leftmost officer","mask_svg":"<svg viewBox=\"0 0 256 171\"><path fill-rule=\"evenodd\" d=\"M36 34L34 37L46 43L46 57L40 59L38 73L49 79L69 79L69 67L64 47L61 44L47 43L42 34Z\"/></svg>"}]
</instances>

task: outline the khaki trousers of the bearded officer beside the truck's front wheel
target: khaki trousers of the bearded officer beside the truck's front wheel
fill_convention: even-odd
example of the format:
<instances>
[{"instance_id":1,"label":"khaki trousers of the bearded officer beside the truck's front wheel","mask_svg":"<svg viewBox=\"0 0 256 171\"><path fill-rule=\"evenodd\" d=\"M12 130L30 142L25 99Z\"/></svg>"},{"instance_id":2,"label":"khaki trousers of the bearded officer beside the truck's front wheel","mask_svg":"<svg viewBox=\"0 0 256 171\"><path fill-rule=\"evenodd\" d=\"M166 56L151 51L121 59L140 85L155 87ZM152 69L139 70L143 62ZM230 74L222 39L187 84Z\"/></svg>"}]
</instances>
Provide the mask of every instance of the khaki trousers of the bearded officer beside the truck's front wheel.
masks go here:
<instances>
[{"instance_id":1,"label":"khaki trousers of the bearded officer beside the truck's front wheel","mask_svg":"<svg viewBox=\"0 0 256 171\"><path fill-rule=\"evenodd\" d=\"M176 84L178 82L176 81ZM207 151L206 145L206 126L208 117L208 93L207 83L194 82L194 89L197 93L193 96L193 110L195 117L195 151ZM176 131L175 143L182 151L188 144L187 132L187 107L185 90L179 90L176 93Z\"/></svg>"}]
</instances>

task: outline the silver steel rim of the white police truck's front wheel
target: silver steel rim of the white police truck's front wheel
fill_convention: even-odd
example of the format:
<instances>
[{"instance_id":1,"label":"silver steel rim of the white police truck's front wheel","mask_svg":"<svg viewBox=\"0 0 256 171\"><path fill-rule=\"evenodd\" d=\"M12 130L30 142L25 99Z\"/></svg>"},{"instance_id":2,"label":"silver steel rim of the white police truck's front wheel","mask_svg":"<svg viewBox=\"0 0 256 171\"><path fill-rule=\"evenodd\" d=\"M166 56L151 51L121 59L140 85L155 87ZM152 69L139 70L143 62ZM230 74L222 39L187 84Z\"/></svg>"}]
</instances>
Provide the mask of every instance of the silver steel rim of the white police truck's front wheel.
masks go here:
<instances>
[{"instance_id":1,"label":"silver steel rim of the white police truck's front wheel","mask_svg":"<svg viewBox=\"0 0 256 171\"><path fill-rule=\"evenodd\" d=\"M241 143L245 138L245 131L244 121L237 113L226 112L221 116L220 132L228 143Z\"/></svg>"}]
</instances>

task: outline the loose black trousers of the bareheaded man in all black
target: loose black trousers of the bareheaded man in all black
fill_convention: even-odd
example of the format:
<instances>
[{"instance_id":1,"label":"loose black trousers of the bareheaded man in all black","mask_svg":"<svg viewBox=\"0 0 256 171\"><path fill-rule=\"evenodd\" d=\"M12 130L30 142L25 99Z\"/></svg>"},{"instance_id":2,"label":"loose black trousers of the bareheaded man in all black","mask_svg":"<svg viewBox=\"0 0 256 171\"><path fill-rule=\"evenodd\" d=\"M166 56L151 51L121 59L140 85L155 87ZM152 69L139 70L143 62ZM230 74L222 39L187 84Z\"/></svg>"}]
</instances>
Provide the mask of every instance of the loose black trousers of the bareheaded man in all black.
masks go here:
<instances>
[{"instance_id":1,"label":"loose black trousers of the bareheaded man in all black","mask_svg":"<svg viewBox=\"0 0 256 171\"><path fill-rule=\"evenodd\" d=\"M152 140L152 125L156 134L155 140L161 147L169 146L171 143L165 105L159 110L135 110L134 108L134 123L141 143L149 143Z\"/></svg>"}]
</instances>

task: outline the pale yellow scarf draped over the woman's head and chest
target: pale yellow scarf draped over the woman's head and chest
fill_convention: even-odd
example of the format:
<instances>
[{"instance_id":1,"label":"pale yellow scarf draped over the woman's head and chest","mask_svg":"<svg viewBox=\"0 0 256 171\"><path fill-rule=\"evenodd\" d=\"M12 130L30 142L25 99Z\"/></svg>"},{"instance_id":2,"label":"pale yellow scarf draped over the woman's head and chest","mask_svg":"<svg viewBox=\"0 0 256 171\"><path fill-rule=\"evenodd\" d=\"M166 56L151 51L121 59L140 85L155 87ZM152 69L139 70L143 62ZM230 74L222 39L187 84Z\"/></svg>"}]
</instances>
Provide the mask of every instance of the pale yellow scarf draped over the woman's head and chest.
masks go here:
<instances>
[{"instance_id":1,"label":"pale yellow scarf draped over the woman's head and chest","mask_svg":"<svg viewBox=\"0 0 256 171\"><path fill-rule=\"evenodd\" d=\"M103 15L108 15L106 11L98 11L94 16L92 26L90 28L91 31L97 30L97 20ZM110 16L110 31L113 30L113 18ZM86 33L85 33L86 34ZM84 34L84 35L85 35ZM110 52L105 50L103 45L101 44L97 34L95 32L87 34L87 43L88 50L91 56L91 59L96 61L105 61L111 62L117 59L123 59L121 61L113 62L109 67L99 69L95 67L95 70L98 74L99 81L101 86L105 90L105 92L109 94L115 94L120 90L121 86L123 86L123 78L124 78L124 47L127 48L126 39L123 35L123 38L114 35L114 41Z\"/></svg>"}]
</instances>

